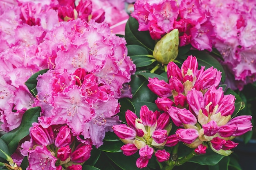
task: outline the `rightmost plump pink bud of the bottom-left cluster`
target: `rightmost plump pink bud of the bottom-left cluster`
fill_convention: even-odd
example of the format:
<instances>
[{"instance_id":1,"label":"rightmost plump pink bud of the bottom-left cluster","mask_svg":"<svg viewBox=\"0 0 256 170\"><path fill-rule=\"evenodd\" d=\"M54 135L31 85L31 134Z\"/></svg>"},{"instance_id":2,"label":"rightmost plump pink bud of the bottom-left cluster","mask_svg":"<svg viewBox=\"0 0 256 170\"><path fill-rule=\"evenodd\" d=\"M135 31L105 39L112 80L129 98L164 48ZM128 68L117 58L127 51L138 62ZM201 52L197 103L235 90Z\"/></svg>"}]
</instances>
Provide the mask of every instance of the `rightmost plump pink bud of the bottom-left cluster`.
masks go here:
<instances>
[{"instance_id":1,"label":"rightmost plump pink bud of the bottom-left cluster","mask_svg":"<svg viewBox=\"0 0 256 170\"><path fill-rule=\"evenodd\" d=\"M70 155L71 161L76 163L83 163L87 161L91 156L91 145L79 144L74 152Z\"/></svg>"}]
</instances>

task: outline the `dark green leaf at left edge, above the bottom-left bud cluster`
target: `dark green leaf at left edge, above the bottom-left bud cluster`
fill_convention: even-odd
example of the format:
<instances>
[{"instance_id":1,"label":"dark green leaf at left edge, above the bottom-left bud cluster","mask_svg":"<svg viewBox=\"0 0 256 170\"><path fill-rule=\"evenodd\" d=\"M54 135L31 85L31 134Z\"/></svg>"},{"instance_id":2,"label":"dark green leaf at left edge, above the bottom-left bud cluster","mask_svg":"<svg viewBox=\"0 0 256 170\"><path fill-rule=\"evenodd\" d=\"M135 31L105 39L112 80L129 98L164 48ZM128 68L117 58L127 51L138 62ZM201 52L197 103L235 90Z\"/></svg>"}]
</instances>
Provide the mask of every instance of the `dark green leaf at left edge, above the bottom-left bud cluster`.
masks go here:
<instances>
[{"instance_id":1,"label":"dark green leaf at left edge, above the bottom-left bud cluster","mask_svg":"<svg viewBox=\"0 0 256 170\"><path fill-rule=\"evenodd\" d=\"M33 122L37 122L37 119L40 116L40 112L40 107L30 108L24 113L21 124L18 128L2 135L1 138L8 145L10 154L15 152L20 140L29 135L29 128L32 126Z\"/></svg>"}]
</instances>

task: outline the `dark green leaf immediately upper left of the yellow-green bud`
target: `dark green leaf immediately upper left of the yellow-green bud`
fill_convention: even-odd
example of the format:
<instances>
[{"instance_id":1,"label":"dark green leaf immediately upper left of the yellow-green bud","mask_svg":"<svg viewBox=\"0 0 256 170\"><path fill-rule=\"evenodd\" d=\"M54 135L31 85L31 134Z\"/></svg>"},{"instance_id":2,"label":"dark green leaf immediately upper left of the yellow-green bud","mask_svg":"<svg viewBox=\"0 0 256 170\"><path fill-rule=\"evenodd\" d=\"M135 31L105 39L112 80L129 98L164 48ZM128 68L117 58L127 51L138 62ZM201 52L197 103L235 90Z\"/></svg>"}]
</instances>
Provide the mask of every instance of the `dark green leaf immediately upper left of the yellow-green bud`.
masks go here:
<instances>
[{"instance_id":1,"label":"dark green leaf immediately upper left of the yellow-green bud","mask_svg":"<svg viewBox=\"0 0 256 170\"><path fill-rule=\"evenodd\" d=\"M126 23L125 39L127 45L143 46L150 53L153 52L155 41L150 37L148 31L138 31L139 23L135 18L130 17Z\"/></svg>"}]
</instances>

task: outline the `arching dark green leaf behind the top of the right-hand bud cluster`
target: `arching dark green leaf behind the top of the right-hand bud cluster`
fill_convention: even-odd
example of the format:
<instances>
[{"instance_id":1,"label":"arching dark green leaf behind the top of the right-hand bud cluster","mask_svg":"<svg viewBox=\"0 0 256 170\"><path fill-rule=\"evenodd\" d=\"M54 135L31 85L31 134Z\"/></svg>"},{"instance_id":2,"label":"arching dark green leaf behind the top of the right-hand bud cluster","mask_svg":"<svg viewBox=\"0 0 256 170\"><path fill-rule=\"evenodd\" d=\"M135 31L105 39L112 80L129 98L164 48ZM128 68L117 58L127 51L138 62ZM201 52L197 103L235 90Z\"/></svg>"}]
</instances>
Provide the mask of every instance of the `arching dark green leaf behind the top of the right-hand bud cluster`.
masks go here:
<instances>
[{"instance_id":1,"label":"arching dark green leaf behind the top of the right-hand bud cluster","mask_svg":"<svg viewBox=\"0 0 256 170\"><path fill-rule=\"evenodd\" d=\"M222 73L221 81L225 82L225 77L226 77L225 71L222 65L220 64L220 62L218 62L218 60L216 60L212 55L210 55L206 51L196 51L196 50L189 51L189 55L191 54L197 58L199 65L205 66L206 69L213 66L218 71L220 71Z\"/></svg>"}]
</instances>

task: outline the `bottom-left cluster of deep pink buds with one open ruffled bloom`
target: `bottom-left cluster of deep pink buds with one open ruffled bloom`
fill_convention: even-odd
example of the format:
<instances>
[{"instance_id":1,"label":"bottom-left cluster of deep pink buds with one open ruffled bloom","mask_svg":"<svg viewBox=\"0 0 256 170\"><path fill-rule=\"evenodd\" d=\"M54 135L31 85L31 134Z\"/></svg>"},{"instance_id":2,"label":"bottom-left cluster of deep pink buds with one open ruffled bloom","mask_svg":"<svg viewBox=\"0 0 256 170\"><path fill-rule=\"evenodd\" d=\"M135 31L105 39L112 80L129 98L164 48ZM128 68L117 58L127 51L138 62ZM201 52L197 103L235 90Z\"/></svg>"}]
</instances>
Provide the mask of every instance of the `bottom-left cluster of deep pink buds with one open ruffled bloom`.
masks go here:
<instances>
[{"instance_id":1,"label":"bottom-left cluster of deep pink buds with one open ruffled bloom","mask_svg":"<svg viewBox=\"0 0 256 170\"><path fill-rule=\"evenodd\" d=\"M78 166L90 158L92 143L81 143L67 125L53 125L43 128L33 123L29 129L30 141L22 144L21 153L28 156L27 170L47 169L61 170Z\"/></svg>"}]
</instances>

